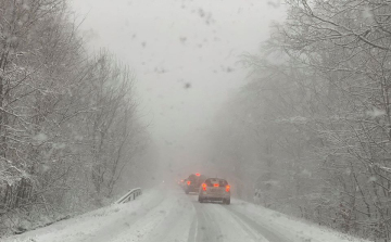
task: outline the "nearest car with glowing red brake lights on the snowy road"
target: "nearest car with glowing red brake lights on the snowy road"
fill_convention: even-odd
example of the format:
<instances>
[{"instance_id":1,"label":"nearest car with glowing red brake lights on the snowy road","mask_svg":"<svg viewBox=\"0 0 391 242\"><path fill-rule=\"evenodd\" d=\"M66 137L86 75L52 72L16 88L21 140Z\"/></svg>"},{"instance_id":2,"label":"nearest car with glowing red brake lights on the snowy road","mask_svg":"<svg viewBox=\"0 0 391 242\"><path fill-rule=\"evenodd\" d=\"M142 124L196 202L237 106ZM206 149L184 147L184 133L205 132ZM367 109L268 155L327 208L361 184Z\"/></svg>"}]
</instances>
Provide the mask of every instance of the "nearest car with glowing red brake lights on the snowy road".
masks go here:
<instances>
[{"instance_id":1,"label":"nearest car with glowing red brake lights on the snowy road","mask_svg":"<svg viewBox=\"0 0 391 242\"><path fill-rule=\"evenodd\" d=\"M223 204L230 204L230 186L225 179L209 178L199 190L200 203L219 201Z\"/></svg>"}]
</instances>

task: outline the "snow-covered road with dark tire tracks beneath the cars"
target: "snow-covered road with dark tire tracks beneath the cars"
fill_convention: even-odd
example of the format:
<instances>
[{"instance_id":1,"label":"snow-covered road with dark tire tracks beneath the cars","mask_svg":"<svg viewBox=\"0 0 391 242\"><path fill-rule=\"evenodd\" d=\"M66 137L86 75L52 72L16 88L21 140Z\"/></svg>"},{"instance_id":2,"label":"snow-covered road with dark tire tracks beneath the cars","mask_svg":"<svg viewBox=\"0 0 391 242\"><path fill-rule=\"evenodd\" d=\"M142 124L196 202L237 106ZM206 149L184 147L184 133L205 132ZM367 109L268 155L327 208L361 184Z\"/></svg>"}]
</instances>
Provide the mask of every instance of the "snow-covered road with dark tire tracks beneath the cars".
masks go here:
<instances>
[{"instance_id":1,"label":"snow-covered road with dark tire tracks beneath the cars","mask_svg":"<svg viewBox=\"0 0 391 242\"><path fill-rule=\"evenodd\" d=\"M358 242L240 200L200 204L180 189L144 191L136 201L100 208L4 242L260 241Z\"/></svg>"}]
</instances>

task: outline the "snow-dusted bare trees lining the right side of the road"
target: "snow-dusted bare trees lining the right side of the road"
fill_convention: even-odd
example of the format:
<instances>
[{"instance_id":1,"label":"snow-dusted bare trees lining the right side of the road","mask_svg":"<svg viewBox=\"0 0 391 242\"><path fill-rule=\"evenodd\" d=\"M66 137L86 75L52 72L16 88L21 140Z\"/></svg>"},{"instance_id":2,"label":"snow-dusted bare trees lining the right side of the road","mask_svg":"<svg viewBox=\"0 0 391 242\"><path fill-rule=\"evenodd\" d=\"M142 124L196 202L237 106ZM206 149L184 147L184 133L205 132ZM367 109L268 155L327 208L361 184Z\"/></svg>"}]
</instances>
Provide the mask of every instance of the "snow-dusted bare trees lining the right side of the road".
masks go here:
<instances>
[{"instance_id":1,"label":"snow-dusted bare trees lining the right side of the road","mask_svg":"<svg viewBox=\"0 0 391 242\"><path fill-rule=\"evenodd\" d=\"M243 198L390 241L391 1L286 2L243 58L252 79L222 110L213 161L232 164Z\"/></svg>"}]
</instances>

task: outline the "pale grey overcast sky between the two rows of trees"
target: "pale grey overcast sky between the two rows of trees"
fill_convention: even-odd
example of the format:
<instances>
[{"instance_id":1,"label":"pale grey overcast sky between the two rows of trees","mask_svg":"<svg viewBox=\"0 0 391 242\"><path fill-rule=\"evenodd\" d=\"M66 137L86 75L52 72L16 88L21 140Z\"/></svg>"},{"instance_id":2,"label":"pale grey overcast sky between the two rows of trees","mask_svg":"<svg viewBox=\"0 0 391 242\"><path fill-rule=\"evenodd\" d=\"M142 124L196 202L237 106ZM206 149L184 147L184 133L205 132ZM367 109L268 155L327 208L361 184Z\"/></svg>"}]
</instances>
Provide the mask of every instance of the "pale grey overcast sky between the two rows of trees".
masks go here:
<instances>
[{"instance_id":1,"label":"pale grey overcast sky between the two rows of trees","mask_svg":"<svg viewBox=\"0 0 391 242\"><path fill-rule=\"evenodd\" d=\"M139 115L162 161L205 160L216 111L245 81L279 0L74 0L90 50L108 48L137 76Z\"/></svg>"}]
</instances>

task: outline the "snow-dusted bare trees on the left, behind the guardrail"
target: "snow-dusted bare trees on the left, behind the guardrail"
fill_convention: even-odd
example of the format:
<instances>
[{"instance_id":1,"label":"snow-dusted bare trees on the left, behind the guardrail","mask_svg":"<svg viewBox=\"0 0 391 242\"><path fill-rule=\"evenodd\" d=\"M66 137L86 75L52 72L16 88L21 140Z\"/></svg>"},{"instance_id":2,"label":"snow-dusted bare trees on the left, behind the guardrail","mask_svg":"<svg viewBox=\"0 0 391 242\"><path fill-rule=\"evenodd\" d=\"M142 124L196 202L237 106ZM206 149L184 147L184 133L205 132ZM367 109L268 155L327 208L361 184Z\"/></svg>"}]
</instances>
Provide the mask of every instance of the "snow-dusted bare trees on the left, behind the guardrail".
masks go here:
<instances>
[{"instance_id":1,"label":"snow-dusted bare trees on the left, behind the guardrail","mask_svg":"<svg viewBox=\"0 0 391 242\"><path fill-rule=\"evenodd\" d=\"M88 54L76 23L66 0L0 1L0 235L100 206L151 166L135 165L133 73Z\"/></svg>"}]
</instances>

